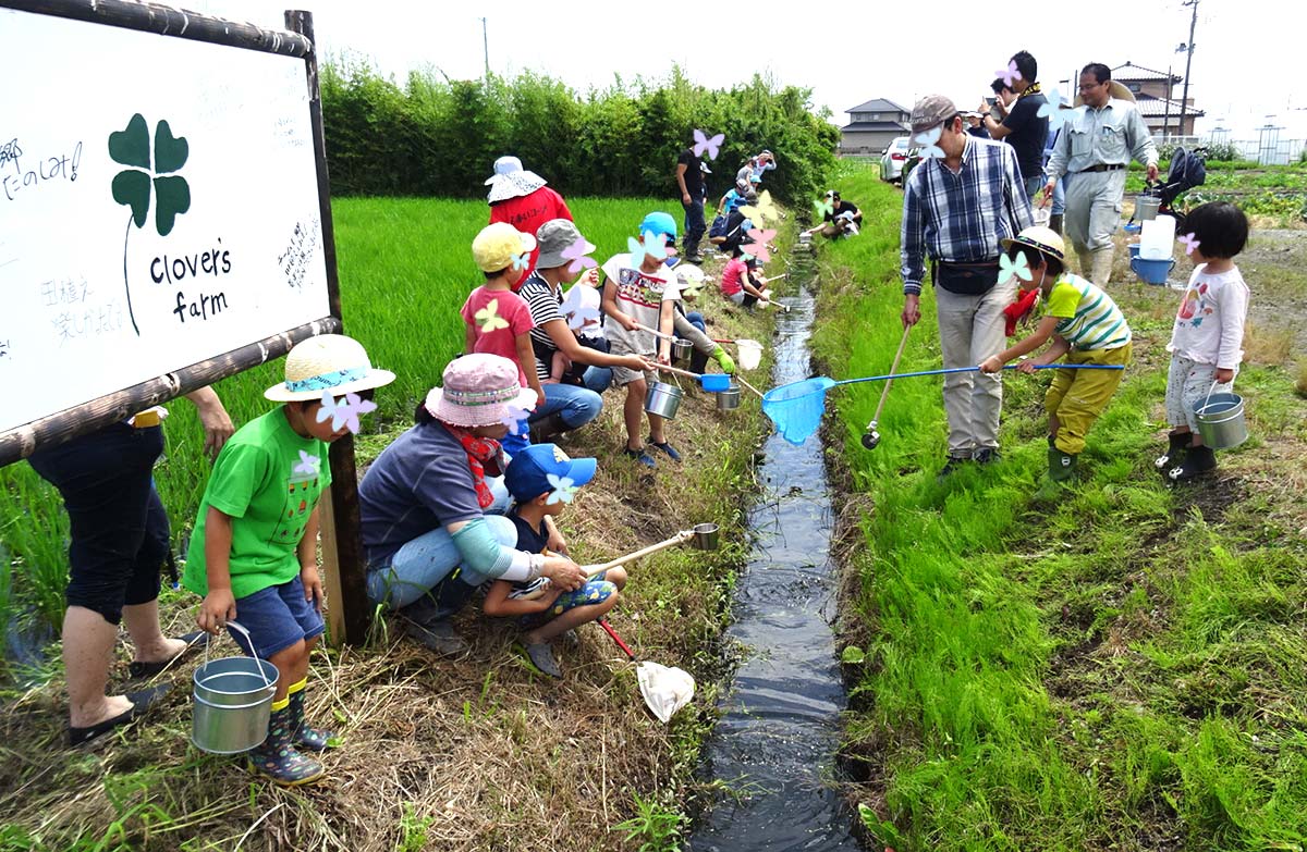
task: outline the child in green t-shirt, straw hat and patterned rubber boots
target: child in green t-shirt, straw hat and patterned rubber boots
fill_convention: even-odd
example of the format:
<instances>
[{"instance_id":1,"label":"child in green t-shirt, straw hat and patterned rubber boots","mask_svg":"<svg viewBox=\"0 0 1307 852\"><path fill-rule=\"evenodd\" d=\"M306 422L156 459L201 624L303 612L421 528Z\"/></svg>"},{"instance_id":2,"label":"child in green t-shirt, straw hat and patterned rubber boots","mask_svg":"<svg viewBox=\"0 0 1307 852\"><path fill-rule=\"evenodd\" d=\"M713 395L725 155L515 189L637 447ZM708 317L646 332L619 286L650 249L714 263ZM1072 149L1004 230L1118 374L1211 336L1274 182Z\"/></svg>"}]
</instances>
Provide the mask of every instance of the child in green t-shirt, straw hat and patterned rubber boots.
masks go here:
<instances>
[{"instance_id":1,"label":"child in green t-shirt, straw hat and patterned rubber boots","mask_svg":"<svg viewBox=\"0 0 1307 852\"><path fill-rule=\"evenodd\" d=\"M251 758L278 784L322 778L322 763L295 746L322 751L331 740L305 724L303 691L308 653L325 630L318 497L331 483L327 444L357 431L358 416L375 408L362 397L393 380L349 337L298 344L286 355L286 380L264 392L285 405L231 436L200 503L183 583L204 596L203 630L217 634L239 619L247 651L277 666L268 738Z\"/></svg>"}]
</instances>

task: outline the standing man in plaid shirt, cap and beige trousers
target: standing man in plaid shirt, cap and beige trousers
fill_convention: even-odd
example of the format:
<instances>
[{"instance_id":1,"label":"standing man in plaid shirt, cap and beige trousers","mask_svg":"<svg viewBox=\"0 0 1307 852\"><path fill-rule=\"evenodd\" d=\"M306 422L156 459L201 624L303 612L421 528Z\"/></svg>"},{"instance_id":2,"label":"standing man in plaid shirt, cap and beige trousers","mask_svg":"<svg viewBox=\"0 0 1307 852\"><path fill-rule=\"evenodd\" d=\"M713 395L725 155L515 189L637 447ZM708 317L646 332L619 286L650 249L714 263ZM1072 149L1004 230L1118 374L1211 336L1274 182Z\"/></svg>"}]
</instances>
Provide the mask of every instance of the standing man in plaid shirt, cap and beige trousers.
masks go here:
<instances>
[{"instance_id":1,"label":"standing man in plaid shirt, cap and beige trousers","mask_svg":"<svg viewBox=\"0 0 1307 852\"><path fill-rule=\"evenodd\" d=\"M1033 223L1030 201L1012 146L965 133L953 101L938 94L912 107L914 141L928 142L936 128L938 152L923 148L903 187L903 325L921 319L929 259L944 366L972 367L1004 346L1002 308L1016 299L1017 278L999 284L999 255L1002 239ZM966 461L997 461L1000 375L945 376L949 460L941 476Z\"/></svg>"}]
</instances>

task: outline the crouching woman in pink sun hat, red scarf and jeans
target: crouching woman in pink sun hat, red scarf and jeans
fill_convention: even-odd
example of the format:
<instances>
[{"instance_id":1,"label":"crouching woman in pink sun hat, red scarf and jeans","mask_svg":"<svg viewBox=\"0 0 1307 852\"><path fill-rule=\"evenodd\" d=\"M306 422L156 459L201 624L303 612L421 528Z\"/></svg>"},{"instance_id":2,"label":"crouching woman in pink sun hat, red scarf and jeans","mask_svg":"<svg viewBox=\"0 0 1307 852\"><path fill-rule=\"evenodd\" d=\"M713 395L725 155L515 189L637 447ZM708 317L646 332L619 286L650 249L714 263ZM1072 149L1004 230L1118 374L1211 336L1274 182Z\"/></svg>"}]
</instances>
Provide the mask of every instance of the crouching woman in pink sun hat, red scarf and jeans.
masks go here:
<instances>
[{"instance_id":1,"label":"crouching woman in pink sun hat, red scarf and jeans","mask_svg":"<svg viewBox=\"0 0 1307 852\"><path fill-rule=\"evenodd\" d=\"M486 580L546 576L563 591L584 583L566 557L518 550L518 532L503 517L499 439L527 399L507 358L451 361L444 387L427 393L416 425L382 451L358 486L369 598L396 610L409 636L446 656L468 652L450 619Z\"/></svg>"}]
</instances>

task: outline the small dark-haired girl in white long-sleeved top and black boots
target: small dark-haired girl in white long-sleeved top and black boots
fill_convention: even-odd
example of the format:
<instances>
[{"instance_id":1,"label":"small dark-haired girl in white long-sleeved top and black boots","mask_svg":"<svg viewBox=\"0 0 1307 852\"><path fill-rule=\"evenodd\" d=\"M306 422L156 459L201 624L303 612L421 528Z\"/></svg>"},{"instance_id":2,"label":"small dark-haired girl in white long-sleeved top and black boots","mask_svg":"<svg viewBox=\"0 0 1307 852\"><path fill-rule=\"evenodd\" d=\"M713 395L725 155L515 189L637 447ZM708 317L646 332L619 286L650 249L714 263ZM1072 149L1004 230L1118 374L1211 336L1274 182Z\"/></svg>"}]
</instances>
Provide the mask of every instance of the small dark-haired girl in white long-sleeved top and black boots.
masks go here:
<instances>
[{"instance_id":1,"label":"small dark-haired girl in white long-sleeved top and black boots","mask_svg":"<svg viewBox=\"0 0 1307 852\"><path fill-rule=\"evenodd\" d=\"M1166 378L1166 418L1171 434L1166 452L1154 463L1171 482L1192 480L1217 467L1213 447L1200 431L1205 409L1223 406L1230 418L1239 417L1242 427L1242 400L1230 391L1243 361L1249 293L1234 256L1248 242L1248 220L1235 205L1218 201L1195 208L1187 227L1191 233L1184 242L1191 246L1195 268L1167 345L1171 370ZM1218 448L1240 440L1223 440Z\"/></svg>"}]
</instances>

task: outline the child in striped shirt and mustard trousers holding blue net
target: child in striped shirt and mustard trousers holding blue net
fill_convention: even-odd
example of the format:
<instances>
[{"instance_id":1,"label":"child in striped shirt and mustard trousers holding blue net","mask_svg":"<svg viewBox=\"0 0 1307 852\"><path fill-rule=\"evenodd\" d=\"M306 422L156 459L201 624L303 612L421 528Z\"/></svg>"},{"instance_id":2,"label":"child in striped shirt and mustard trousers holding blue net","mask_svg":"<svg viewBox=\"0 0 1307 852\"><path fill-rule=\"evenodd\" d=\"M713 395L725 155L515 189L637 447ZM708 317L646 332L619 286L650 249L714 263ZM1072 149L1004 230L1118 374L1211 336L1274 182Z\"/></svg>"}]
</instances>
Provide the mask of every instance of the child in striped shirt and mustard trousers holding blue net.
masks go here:
<instances>
[{"instance_id":1,"label":"child in striped shirt and mustard trousers holding blue net","mask_svg":"<svg viewBox=\"0 0 1307 852\"><path fill-rule=\"evenodd\" d=\"M1004 274L1016 276L1022 289L1038 287L1044 316L1035 333L987 358L980 370L997 372L1006 362L1052 345L1036 358L1022 362L1022 372L1053 363L1064 354L1067 363L1121 366L1131 362L1131 327L1107 293L1065 269L1065 248L1056 231L1027 227L1002 240ZM1063 483L1076 474L1076 459L1085 448L1085 435L1121 383L1124 370L1057 370L1044 397L1048 410L1048 478Z\"/></svg>"}]
</instances>

